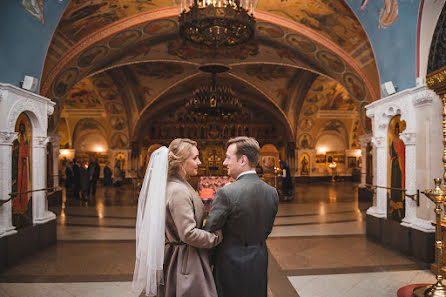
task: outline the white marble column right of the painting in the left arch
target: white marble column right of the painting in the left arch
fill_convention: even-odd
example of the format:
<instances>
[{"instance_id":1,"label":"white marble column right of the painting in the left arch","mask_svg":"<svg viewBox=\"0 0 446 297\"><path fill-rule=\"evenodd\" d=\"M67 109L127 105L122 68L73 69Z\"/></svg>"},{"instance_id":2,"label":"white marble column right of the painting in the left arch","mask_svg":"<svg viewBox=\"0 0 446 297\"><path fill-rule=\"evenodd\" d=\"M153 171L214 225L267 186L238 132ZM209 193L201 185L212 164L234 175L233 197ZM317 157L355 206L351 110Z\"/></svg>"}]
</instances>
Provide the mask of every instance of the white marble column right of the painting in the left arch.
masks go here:
<instances>
[{"instance_id":1,"label":"white marble column right of the painting in the left arch","mask_svg":"<svg viewBox=\"0 0 446 297\"><path fill-rule=\"evenodd\" d=\"M33 137L33 190L46 188L46 145L49 138L46 136ZM33 223L43 224L56 218L56 215L48 211L47 191L33 192Z\"/></svg>"}]
</instances>

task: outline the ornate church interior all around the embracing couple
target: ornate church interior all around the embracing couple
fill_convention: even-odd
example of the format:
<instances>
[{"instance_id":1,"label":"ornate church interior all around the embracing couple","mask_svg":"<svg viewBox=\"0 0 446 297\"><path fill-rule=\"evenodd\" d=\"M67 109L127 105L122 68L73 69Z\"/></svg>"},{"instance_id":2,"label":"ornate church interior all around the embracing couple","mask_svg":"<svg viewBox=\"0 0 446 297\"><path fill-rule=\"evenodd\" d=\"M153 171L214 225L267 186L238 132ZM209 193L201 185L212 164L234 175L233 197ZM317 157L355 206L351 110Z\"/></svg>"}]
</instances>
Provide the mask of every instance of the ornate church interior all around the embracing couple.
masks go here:
<instances>
[{"instance_id":1,"label":"ornate church interior all around the embracing couple","mask_svg":"<svg viewBox=\"0 0 446 297\"><path fill-rule=\"evenodd\" d=\"M196 141L209 209L237 136L280 196L268 297L446 296L445 2L2 3L0 296L139 296L151 153Z\"/></svg>"}]
</instances>

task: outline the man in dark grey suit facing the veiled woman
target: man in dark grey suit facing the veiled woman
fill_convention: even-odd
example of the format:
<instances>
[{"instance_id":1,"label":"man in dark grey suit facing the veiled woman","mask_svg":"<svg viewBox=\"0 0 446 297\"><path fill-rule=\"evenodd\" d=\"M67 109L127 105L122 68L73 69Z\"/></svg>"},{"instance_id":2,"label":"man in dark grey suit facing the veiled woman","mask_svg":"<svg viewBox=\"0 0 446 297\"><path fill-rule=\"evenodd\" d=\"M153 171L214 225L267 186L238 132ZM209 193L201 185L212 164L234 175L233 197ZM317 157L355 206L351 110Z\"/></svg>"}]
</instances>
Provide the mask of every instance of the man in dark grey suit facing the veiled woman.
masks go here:
<instances>
[{"instance_id":1,"label":"man in dark grey suit facing the veiled woman","mask_svg":"<svg viewBox=\"0 0 446 297\"><path fill-rule=\"evenodd\" d=\"M250 137L227 143L223 165L237 181L215 194L205 228L223 231L215 251L214 279L219 297L266 297L268 251L278 207L275 188L259 179L255 167L259 143Z\"/></svg>"}]
</instances>

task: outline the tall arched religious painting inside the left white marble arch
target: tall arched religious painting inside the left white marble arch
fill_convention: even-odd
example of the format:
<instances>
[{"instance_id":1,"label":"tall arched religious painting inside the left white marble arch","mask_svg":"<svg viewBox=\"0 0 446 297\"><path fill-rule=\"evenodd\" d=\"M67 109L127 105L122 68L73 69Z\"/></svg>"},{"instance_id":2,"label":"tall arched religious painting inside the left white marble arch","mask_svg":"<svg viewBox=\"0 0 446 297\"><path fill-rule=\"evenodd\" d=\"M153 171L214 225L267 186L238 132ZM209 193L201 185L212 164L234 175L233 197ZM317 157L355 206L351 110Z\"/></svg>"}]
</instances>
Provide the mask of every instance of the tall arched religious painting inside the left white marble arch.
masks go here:
<instances>
[{"instance_id":1,"label":"tall arched religious painting inside the left white marble arch","mask_svg":"<svg viewBox=\"0 0 446 297\"><path fill-rule=\"evenodd\" d=\"M32 224L32 126L28 116L20 114L12 143L12 224L23 228Z\"/></svg>"}]
</instances>

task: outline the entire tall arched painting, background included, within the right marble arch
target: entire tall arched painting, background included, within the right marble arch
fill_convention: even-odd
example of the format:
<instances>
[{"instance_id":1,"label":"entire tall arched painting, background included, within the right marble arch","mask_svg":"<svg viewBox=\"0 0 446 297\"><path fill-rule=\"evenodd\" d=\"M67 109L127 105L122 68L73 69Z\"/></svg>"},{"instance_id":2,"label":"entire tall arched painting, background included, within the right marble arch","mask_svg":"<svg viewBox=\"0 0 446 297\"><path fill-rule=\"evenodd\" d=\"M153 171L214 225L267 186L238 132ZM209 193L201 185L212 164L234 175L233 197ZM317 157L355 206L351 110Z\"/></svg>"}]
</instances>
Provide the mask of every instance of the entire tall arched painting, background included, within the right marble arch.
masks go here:
<instances>
[{"instance_id":1,"label":"entire tall arched painting, background included, within the right marble arch","mask_svg":"<svg viewBox=\"0 0 446 297\"><path fill-rule=\"evenodd\" d=\"M390 199L388 204L388 217L400 222L405 216L406 187L406 146L400 139L400 133L406 129L406 122L400 120L397 115L390 120L388 135L388 169L387 179L390 189Z\"/></svg>"}]
</instances>

